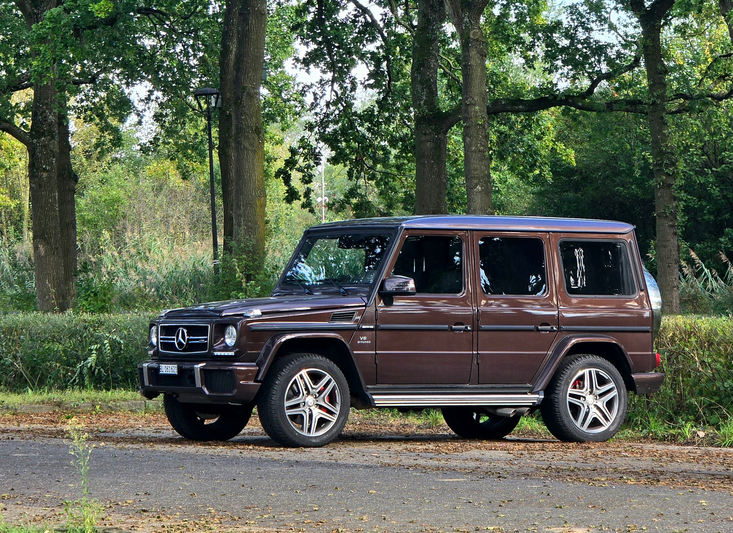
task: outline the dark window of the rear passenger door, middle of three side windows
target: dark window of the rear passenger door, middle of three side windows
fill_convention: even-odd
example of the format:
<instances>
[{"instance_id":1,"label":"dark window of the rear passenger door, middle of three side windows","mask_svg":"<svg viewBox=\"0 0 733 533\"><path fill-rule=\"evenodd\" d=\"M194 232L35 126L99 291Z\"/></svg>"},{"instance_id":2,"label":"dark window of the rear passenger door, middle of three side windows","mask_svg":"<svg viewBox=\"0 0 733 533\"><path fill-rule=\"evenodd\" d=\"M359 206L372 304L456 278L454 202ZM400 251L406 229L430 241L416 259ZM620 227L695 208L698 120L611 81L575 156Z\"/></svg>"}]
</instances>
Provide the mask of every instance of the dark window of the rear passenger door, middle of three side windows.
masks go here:
<instances>
[{"instance_id":1,"label":"dark window of the rear passenger door, middle of three side windows","mask_svg":"<svg viewBox=\"0 0 733 533\"><path fill-rule=\"evenodd\" d=\"M535 237L483 237L479 269L484 294L537 296L545 292L545 244Z\"/></svg>"}]
</instances>

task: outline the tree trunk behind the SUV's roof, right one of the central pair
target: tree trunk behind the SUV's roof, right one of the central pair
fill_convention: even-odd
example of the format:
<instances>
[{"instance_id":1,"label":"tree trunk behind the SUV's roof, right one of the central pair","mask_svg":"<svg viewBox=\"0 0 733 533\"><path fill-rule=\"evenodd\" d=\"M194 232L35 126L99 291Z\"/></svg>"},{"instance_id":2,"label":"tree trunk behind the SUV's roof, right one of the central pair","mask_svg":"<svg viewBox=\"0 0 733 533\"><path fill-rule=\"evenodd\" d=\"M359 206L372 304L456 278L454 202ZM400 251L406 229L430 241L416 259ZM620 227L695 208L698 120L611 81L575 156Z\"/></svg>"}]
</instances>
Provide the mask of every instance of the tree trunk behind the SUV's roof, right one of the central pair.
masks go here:
<instances>
[{"instance_id":1,"label":"tree trunk behind the SUV's roof, right one of the central pair","mask_svg":"<svg viewBox=\"0 0 733 533\"><path fill-rule=\"evenodd\" d=\"M468 214L493 214L491 199L491 156L486 112L487 48L481 18L487 0L446 0L451 19L460 37L461 119L463 120L463 160Z\"/></svg>"}]
</instances>

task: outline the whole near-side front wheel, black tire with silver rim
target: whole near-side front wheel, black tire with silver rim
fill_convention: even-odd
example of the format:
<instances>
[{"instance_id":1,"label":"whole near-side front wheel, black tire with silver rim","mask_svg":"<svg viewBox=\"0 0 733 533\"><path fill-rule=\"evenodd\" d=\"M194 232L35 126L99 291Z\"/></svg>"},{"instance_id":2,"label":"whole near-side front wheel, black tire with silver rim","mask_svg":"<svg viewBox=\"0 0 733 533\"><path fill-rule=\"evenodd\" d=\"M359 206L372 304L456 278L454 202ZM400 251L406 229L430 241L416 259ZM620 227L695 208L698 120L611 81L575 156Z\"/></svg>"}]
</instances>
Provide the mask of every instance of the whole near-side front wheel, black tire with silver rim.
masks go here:
<instances>
[{"instance_id":1,"label":"whole near-side front wheel, black tire with silver rim","mask_svg":"<svg viewBox=\"0 0 733 533\"><path fill-rule=\"evenodd\" d=\"M333 386L329 381L316 391L304 391L303 387L310 389L325 382L325 376L331 378ZM299 403L300 399L303 402ZM286 402L295 402L288 413ZM303 353L286 355L273 363L257 402L259 421L270 438L283 446L303 448L331 443L344 429L349 409L349 385L339 367L320 355Z\"/></svg>"}]
</instances>

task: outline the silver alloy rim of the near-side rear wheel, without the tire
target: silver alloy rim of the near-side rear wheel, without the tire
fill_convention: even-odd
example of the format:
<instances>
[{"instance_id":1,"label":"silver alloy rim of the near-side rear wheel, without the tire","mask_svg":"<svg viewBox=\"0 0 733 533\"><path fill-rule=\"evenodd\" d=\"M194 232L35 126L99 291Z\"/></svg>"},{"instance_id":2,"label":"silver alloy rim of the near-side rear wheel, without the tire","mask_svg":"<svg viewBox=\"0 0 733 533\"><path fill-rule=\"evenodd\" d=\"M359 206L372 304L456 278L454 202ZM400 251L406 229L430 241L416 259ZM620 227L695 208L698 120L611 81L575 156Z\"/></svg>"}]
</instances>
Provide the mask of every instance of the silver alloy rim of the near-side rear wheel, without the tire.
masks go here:
<instances>
[{"instance_id":1,"label":"silver alloy rim of the near-side rear wheel, without the tire","mask_svg":"<svg viewBox=\"0 0 733 533\"><path fill-rule=\"evenodd\" d=\"M619 391L600 369L583 369L570 380L567 410L575 426L587 433L605 431L619 411Z\"/></svg>"}]
</instances>

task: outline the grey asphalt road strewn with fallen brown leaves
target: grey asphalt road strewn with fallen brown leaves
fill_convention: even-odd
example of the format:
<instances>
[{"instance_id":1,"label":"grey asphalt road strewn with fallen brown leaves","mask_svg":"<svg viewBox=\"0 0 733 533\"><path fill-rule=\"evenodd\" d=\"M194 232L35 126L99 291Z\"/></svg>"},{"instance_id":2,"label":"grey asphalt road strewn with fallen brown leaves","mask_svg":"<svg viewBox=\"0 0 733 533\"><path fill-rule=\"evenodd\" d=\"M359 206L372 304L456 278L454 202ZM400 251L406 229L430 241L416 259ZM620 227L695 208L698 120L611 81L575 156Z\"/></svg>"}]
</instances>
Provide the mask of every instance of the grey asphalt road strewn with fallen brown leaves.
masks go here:
<instances>
[{"instance_id":1,"label":"grey asphalt road strewn with fallen brown leaves","mask_svg":"<svg viewBox=\"0 0 733 533\"><path fill-rule=\"evenodd\" d=\"M6 520L58 521L78 498L69 441L37 429L0 424ZM142 425L92 442L92 496L123 531L733 532L733 451L720 449L369 427L323 449L282 449L258 427L224 445Z\"/></svg>"}]
</instances>

